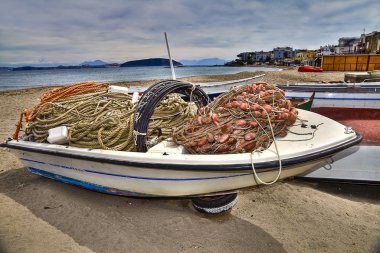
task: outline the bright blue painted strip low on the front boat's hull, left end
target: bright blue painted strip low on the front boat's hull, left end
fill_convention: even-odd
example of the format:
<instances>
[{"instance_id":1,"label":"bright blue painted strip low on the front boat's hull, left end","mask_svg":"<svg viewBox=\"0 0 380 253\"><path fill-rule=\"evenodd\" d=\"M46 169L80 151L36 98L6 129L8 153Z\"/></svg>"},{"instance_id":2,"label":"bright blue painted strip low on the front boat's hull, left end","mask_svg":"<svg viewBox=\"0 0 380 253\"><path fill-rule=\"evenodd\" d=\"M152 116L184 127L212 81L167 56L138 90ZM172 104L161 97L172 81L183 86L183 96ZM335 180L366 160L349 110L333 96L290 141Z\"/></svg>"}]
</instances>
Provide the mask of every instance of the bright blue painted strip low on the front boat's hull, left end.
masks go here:
<instances>
[{"instance_id":1,"label":"bright blue painted strip low on the front boat's hull, left end","mask_svg":"<svg viewBox=\"0 0 380 253\"><path fill-rule=\"evenodd\" d=\"M144 194L144 193L137 193L137 192L131 192L131 191L126 191L126 190L119 190L116 188L111 188L111 187L106 187L102 185L97 185L97 184L91 184L87 182L83 182L80 180L76 180L73 178L69 177L64 177L60 176L54 173L50 173L44 170L39 170L36 168L28 167L28 170L34 174L43 176L43 177L48 177L66 184L71 184L75 186L80 186L89 190L93 191L98 191L98 192L103 192L107 194L112 194L112 195L123 195L123 196L134 196L134 197L162 197L160 195L150 195L150 194Z\"/></svg>"}]
</instances>

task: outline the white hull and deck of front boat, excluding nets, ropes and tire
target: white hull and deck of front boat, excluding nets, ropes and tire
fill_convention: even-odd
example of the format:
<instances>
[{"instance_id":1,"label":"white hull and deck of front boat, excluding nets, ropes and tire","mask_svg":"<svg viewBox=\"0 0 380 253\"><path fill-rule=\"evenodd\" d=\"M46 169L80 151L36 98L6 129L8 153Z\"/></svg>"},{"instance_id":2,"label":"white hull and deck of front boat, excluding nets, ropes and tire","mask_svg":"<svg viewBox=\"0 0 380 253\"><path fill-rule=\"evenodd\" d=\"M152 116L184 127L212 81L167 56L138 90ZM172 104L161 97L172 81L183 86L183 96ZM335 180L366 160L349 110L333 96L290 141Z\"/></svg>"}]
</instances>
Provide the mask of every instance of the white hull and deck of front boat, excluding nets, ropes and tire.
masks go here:
<instances>
[{"instance_id":1,"label":"white hull and deck of front boat, excluding nets, ropes and tire","mask_svg":"<svg viewBox=\"0 0 380 253\"><path fill-rule=\"evenodd\" d=\"M164 141L147 152L76 148L8 140L9 148L29 171L92 190L132 196L202 196L298 175L361 141L344 125L313 112L299 110L306 124L293 125L265 151L224 155L188 154ZM281 163L279 163L280 157ZM254 166L253 166L254 165ZM257 173L257 176L254 175Z\"/></svg>"}]
</instances>

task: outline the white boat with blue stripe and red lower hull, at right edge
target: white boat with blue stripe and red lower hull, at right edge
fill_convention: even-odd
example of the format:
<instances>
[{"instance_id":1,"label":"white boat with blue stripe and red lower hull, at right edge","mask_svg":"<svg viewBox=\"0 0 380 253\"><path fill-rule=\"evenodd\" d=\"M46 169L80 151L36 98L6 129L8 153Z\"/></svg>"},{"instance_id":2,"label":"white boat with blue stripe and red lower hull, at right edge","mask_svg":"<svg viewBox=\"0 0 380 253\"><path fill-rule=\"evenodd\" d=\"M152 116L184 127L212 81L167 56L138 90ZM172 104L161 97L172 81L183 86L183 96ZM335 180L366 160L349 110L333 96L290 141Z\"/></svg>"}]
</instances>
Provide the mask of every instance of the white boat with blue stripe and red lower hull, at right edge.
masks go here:
<instances>
[{"instance_id":1,"label":"white boat with blue stripe and red lower hull, at right edge","mask_svg":"<svg viewBox=\"0 0 380 253\"><path fill-rule=\"evenodd\" d=\"M277 85L290 100L310 98L311 111L353 127L363 143L380 145L380 82Z\"/></svg>"}]
</instances>

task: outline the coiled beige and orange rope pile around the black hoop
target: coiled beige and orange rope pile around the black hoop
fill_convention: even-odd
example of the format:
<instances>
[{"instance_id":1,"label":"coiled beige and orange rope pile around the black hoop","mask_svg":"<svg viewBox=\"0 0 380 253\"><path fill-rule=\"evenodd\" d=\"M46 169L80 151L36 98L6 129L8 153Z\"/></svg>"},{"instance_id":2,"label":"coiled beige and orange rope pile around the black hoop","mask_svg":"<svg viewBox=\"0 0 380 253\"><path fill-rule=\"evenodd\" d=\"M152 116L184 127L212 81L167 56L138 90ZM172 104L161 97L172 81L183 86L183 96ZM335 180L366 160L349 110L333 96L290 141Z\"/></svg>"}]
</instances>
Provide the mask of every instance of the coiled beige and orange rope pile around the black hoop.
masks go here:
<instances>
[{"instance_id":1,"label":"coiled beige and orange rope pile around the black hoop","mask_svg":"<svg viewBox=\"0 0 380 253\"><path fill-rule=\"evenodd\" d=\"M24 110L19 128L25 116L24 139L46 142L49 129L66 126L70 146L135 151L135 111L130 95L109 92L108 84L86 82L44 93L31 113ZM190 115L191 107L178 95L166 96L149 120L147 136L160 127L162 135L156 140L160 142Z\"/></svg>"}]
</instances>

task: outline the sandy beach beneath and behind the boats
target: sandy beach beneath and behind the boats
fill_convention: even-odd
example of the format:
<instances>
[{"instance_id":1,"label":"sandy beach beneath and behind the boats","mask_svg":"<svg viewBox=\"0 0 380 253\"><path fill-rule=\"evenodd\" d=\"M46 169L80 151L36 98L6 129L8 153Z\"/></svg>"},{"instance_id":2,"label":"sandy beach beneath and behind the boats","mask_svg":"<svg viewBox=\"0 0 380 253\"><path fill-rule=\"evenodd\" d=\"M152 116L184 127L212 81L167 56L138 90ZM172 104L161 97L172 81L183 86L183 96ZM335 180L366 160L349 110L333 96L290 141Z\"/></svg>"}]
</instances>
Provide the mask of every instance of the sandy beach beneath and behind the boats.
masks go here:
<instances>
[{"instance_id":1,"label":"sandy beach beneath and behind the boats","mask_svg":"<svg viewBox=\"0 0 380 253\"><path fill-rule=\"evenodd\" d=\"M344 77L295 69L265 74L268 83ZM12 135L21 110L37 104L46 90L0 92L1 140ZM0 252L380 252L379 185L288 179L244 189L230 213L209 216L186 198L106 195L31 174L5 149L0 159Z\"/></svg>"}]
</instances>

